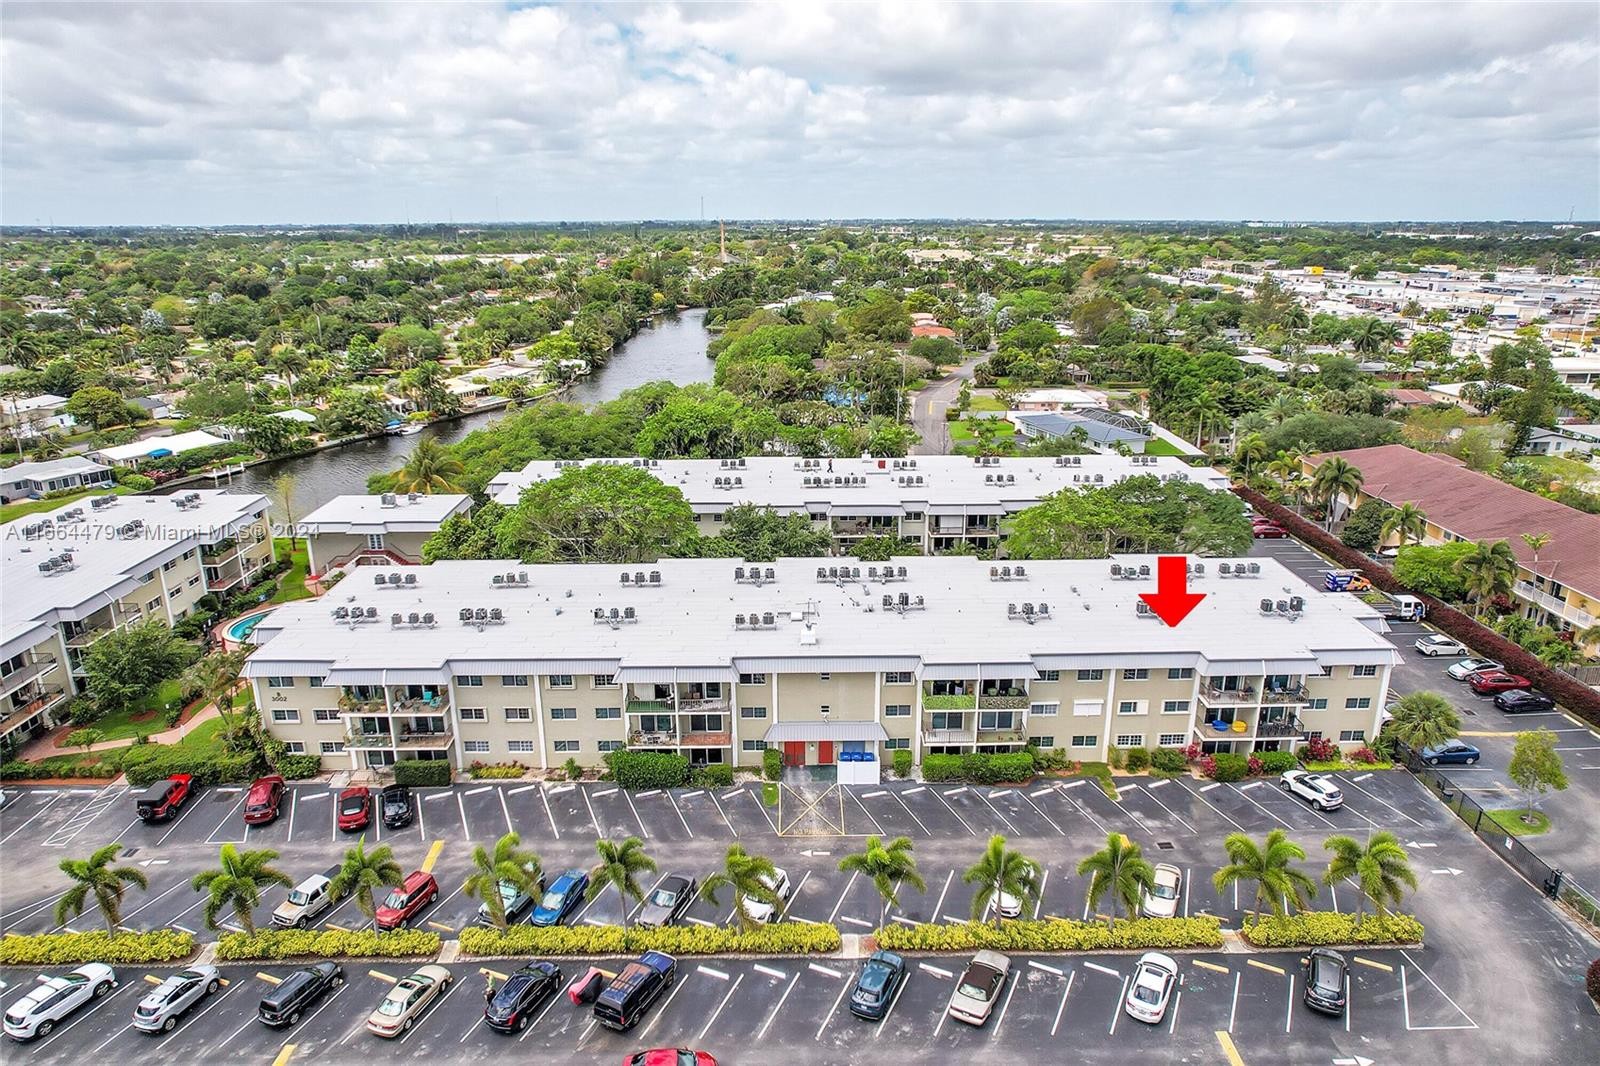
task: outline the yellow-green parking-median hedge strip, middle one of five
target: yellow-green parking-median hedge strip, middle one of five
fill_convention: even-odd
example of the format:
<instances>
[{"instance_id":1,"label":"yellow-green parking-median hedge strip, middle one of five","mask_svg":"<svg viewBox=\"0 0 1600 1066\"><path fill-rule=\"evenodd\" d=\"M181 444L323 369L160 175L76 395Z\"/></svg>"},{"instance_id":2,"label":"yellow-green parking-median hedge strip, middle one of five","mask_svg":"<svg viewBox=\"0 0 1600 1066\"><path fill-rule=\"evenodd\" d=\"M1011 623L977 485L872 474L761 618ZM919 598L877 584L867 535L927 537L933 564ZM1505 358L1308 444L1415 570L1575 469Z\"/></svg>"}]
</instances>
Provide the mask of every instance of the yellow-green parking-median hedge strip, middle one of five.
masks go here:
<instances>
[{"instance_id":1,"label":"yellow-green parking-median hedge strip, middle one of five","mask_svg":"<svg viewBox=\"0 0 1600 1066\"><path fill-rule=\"evenodd\" d=\"M814 922L778 922L744 932L738 927L667 925L512 925L461 930L461 951L472 956L803 956L838 951L838 927Z\"/></svg>"}]
</instances>

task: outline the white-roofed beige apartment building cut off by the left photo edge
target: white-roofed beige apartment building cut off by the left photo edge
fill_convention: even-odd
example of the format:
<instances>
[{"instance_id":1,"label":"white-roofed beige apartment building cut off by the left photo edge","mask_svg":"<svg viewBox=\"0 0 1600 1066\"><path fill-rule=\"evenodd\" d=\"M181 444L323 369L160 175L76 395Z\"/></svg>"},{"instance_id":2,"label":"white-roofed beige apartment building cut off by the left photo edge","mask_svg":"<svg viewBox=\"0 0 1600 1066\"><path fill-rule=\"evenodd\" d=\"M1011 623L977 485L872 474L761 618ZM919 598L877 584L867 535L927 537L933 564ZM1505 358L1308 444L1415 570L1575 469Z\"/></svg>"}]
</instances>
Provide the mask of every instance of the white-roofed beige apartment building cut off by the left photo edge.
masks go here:
<instances>
[{"instance_id":1,"label":"white-roofed beige apartment building cut off by the left photo edge","mask_svg":"<svg viewBox=\"0 0 1600 1066\"><path fill-rule=\"evenodd\" d=\"M267 498L94 496L0 527L0 749L53 725L82 661L115 629L184 618L272 565Z\"/></svg>"}]
</instances>

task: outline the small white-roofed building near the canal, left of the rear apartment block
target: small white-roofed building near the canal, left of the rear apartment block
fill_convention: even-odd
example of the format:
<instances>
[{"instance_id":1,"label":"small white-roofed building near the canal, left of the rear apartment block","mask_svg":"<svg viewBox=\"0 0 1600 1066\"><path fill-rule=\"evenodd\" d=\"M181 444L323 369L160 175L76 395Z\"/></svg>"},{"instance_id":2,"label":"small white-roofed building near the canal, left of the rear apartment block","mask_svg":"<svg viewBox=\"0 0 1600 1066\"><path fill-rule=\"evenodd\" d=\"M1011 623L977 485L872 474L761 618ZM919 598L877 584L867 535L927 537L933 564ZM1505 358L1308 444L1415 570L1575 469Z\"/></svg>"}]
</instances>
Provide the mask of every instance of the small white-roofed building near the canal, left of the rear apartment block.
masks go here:
<instances>
[{"instance_id":1,"label":"small white-roofed building near the canal, left of the rear apartment block","mask_svg":"<svg viewBox=\"0 0 1600 1066\"><path fill-rule=\"evenodd\" d=\"M453 514L472 511L458 493L381 493L334 496L296 523L306 538L309 573L341 567L422 562L422 543Z\"/></svg>"}]
</instances>

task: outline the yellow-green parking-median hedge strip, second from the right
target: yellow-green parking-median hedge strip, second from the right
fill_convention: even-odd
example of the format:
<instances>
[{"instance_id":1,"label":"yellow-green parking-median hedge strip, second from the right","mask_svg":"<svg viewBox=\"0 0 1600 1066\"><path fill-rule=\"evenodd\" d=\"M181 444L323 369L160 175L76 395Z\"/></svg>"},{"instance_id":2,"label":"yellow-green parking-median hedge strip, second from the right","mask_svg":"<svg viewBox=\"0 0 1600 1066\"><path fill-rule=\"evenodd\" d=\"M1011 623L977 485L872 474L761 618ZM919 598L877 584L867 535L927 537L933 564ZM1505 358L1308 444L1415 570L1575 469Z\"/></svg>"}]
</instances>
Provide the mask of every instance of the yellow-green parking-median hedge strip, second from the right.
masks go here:
<instances>
[{"instance_id":1,"label":"yellow-green parking-median hedge strip, second from the right","mask_svg":"<svg viewBox=\"0 0 1600 1066\"><path fill-rule=\"evenodd\" d=\"M1221 948L1222 927L1214 917L1128 919L1104 922L1040 919L962 922L960 925L886 925L878 946L890 951L1160 951Z\"/></svg>"}]
</instances>

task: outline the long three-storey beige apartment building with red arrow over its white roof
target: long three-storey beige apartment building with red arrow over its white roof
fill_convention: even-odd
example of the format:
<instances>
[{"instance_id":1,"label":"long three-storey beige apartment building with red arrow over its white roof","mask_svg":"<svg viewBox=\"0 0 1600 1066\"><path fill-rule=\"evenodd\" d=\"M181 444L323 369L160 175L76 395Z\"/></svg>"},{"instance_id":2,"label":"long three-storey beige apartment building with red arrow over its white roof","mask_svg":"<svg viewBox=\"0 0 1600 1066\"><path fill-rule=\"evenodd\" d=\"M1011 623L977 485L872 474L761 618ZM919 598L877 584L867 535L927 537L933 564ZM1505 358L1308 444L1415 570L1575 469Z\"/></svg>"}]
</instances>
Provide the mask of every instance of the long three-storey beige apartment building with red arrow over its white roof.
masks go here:
<instances>
[{"instance_id":1,"label":"long three-storey beige apartment building with red arrow over its white roof","mask_svg":"<svg viewBox=\"0 0 1600 1066\"><path fill-rule=\"evenodd\" d=\"M373 568L262 619L245 675L264 725L328 768L624 746L755 767L766 747L1350 747L1398 661L1371 607L1272 560L1194 560L1206 599L1176 629L1138 597L1150 555L837 562Z\"/></svg>"}]
</instances>

